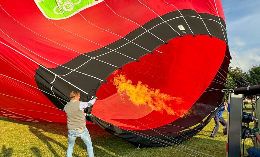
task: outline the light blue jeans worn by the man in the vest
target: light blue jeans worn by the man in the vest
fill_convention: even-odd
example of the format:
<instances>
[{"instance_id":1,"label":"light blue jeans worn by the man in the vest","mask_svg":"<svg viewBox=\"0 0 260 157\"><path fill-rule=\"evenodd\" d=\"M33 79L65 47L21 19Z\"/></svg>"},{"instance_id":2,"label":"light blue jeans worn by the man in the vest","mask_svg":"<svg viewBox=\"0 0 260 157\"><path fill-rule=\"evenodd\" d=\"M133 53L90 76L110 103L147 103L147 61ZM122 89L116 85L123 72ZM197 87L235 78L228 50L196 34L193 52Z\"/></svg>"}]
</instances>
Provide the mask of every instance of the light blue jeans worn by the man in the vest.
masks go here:
<instances>
[{"instance_id":1,"label":"light blue jeans worn by the man in the vest","mask_svg":"<svg viewBox=\"0 0 260 157\"><path fill-rule=\"evenodd\" d=\"M84 143L87 146L87 151L88 151L88 157L94 157L94 152L93 152L93 147L92 147L92 142L91 138L88 132L88 129L85 127L82 130L68 130L68 150L67 150L67 156L66 157L71 157L72 152L73 152L73 147L75 144L75 140L77 137L80 137Z\"/></svg>"}]
</instances>

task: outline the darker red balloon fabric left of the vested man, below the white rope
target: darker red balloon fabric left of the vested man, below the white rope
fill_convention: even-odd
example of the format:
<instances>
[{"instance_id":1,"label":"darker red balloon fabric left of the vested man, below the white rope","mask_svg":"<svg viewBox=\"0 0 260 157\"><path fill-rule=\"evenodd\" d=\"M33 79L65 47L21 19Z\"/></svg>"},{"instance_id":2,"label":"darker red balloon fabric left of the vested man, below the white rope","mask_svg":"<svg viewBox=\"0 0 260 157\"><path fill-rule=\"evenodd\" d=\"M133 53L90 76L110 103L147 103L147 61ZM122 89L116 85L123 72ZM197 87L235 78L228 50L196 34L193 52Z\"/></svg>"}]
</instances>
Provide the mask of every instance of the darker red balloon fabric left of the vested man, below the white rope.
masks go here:
<instances>
[{"instance_id":1,"label":"darker red balloon fabric left of the vested man, below the white rope","mask_svg":"<svg viewBox=\"0 0 260 157\"><path fill-rule=\"evenodd\" d=\"M34 69L39 66L7 46L0 44L0 49L0 116L66 122L65 112L57 109L37 87Z\"/></svg>"}]
</instances>

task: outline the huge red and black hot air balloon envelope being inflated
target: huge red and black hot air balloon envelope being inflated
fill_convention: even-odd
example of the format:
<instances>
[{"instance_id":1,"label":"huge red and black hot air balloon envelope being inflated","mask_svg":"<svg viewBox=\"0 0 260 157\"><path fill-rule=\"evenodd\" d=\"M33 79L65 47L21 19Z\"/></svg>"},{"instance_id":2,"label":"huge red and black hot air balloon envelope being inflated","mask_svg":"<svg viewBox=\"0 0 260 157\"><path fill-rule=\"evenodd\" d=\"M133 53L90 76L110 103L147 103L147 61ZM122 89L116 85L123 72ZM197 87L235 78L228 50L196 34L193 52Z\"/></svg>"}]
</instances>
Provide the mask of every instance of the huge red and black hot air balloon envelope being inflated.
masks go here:
<instances>
[{"instance_id":1,"label":"huge red and black hot air balloon envelope being inflated","mask_svg":"<svg viewBox=\"0 0 260 157\"><path fill-rule=\"evenodd\" d=\"M1 116L66 122L63 107L79 90L82 101L100 99L91 121L154 146L136 134L178 138L223 98L230 55L221 1L93 1L53 16L61 19L39 1L0 5Z\"/></svg>"}]
</instances>

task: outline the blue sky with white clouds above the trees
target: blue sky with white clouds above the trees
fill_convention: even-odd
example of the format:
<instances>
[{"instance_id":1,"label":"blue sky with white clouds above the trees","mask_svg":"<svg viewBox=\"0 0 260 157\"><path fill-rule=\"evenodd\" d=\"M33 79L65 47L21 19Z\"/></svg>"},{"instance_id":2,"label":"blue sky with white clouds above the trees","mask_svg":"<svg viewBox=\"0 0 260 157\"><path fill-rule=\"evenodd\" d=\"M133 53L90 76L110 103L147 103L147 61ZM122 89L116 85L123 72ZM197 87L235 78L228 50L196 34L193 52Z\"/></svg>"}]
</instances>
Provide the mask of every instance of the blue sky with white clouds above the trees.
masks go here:
<instances>
[{"instance_id":1,"label":"blue sky with white clouds above the trees","mask_svg":"<svg viewBox=\"0 0 260 157\"><path fill-rule=\"evenodd\" d=\"M260 1L222 0L231 66L244 72L260 65Z\"/></svg>"}]
</instances>

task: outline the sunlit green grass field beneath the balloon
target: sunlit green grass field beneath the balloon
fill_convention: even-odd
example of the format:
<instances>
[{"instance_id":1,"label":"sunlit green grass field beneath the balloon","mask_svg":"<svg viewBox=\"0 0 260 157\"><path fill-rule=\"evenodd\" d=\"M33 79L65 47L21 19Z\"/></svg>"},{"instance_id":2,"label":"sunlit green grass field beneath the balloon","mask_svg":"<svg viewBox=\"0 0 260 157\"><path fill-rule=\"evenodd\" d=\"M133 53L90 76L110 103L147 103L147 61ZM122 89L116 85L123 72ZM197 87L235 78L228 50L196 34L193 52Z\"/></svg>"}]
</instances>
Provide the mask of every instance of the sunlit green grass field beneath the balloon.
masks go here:
<instances>
[{"instance_id":1,"label":"sunlit green grass field beneath the balloon","mask_svg":"<svg viewBox=\"0 0 260 157\"><path fill-rule=\"evenodd\" d=\"M248 105L246 111L250 111ZM223 114L227 120L227 112ZM215 126L214 120L190 141L181 146L153 147L137 149L133 145L117 138L95 124L87 124L90 132L95 157L172 157L172 156L226 156L226 136L220 126L216 138L210 138ZM250 127L253 126L251 123ZM66 156L68 135L66 123L20 122L0 117L0 157L63 157ZM245 149L253 146L251 139L246 139ZM193 149L202 153L188 150ZM185 152L185 153L183 153ZM194 153L195 152L195 153ZM85 144L77 138L74 146L74 157L87 156ZM187 154L188 153L188 154ZM242 152L243 153L243 152ZM191 154L191 155L189 155ZM247 151L245 150L245 155Z\"/></svg>"}]
</instances>

